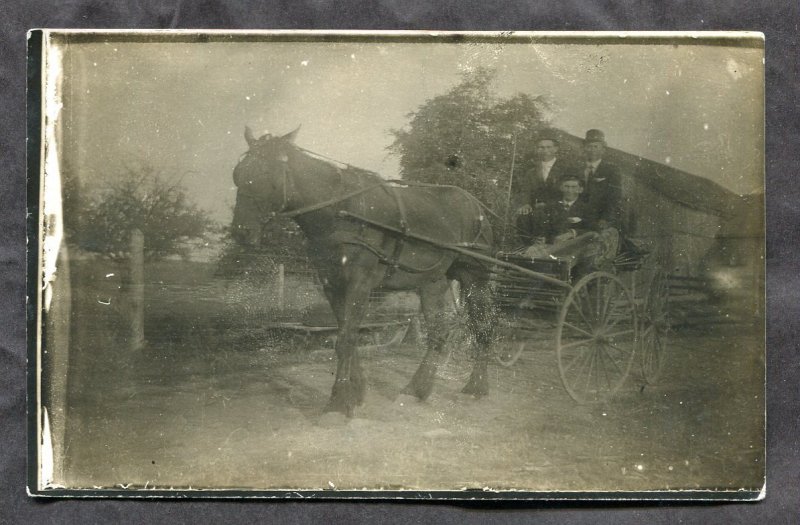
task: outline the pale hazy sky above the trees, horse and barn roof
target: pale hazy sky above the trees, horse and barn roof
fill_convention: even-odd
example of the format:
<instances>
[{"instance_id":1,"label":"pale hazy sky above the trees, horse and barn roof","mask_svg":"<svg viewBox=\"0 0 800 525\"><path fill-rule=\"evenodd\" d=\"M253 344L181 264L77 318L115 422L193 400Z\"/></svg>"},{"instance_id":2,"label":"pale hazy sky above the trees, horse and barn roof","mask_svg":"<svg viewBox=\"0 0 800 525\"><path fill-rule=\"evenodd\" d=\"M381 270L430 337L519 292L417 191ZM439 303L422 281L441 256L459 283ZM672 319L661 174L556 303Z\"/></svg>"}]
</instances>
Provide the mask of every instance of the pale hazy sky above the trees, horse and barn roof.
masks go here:
<instances>
[{"instance_id":1,"label":"pale hazy sky above the trees, horse and barn roof","mask_svg":"<svg viewBox=\"0 0 800 525\"><path fill-rule=\"evenodd\" d=\"M65 165L84 187L147 162L180 177L220 222L256 133L301 126L297 144L398 175L389 130L477 67L498 97L548 95L553 125L709 178L763 189L763 53L695 44L70 43L63 61Z\"/></svg>"}]
</instances>

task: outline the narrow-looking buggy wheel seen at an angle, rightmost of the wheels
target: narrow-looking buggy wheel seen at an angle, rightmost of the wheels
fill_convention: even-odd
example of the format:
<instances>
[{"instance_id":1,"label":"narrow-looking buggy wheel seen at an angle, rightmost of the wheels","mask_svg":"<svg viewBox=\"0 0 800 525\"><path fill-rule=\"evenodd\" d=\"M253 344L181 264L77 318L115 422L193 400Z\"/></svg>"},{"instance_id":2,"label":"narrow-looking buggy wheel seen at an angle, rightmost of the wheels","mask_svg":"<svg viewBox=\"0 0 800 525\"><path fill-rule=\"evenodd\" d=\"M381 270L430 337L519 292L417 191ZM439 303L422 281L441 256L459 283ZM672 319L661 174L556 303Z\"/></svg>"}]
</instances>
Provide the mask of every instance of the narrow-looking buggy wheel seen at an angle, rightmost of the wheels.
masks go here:
<instances>
[{"instance_id":1,"label":"narrow-looking buggy wheel seen at an angle, rightmost of the wheels","mask_svg":"<svg viewBox=\"0 0 800 525\"><path fill-rule=\"evenodd\" d=\"M664 271L657 268L647 289L641 323L642 375L649 384L658 381L667 358L668 305L669 280Z\"/></svg>"}]
</instances>

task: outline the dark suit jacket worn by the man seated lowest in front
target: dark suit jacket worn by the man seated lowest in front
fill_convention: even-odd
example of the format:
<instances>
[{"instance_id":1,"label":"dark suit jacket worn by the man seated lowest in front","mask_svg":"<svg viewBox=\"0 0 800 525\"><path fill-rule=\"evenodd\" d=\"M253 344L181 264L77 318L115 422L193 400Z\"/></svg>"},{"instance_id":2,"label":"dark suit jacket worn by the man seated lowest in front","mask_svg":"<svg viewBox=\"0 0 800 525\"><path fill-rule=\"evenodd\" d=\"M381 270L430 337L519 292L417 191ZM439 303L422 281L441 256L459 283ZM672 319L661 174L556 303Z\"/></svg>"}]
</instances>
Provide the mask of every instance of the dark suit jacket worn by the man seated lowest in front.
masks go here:
<instances>
[{"instance_id":1,"label":"dark suit jacket worn by the man seated lowest in front","mask_svg":"<svg viewBox=\"0 0 800 525\"><path fill-rule=\"evenodd\" d=\"M520 240L523 245L533 244L537 238L544 237L545 242L552 244L556 236L575 230L576 235L592 229L587 220L589 213L588 204L583 199L578 199L572 206L566 206L563 201L550 201L544 206L534 210L527 219L520 224L523 230Z\"/></svg>"}]
</instances>

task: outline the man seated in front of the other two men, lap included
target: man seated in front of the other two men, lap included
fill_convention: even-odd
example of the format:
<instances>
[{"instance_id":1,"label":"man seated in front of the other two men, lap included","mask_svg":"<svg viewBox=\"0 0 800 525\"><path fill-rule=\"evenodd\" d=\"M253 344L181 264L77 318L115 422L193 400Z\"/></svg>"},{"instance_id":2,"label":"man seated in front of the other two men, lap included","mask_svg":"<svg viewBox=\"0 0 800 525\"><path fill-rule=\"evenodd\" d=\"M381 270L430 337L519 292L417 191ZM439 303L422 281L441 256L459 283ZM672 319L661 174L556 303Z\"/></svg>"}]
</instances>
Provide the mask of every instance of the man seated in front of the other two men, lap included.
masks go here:
<instances>
[{"instance_id":1,"label":"man seated in front of the other two men, lap included","mask_svg":"<svg viewBox=\"0 0 800 525\"><path fill-rule=\"evenodd\" d=\"M559 189L561 200L531 215L521 238L527 246L524 254L569 260L573 276L608 268L617 254L619 233L592 219L578 175L565 176Z\"/></svg>"}]
</instances>

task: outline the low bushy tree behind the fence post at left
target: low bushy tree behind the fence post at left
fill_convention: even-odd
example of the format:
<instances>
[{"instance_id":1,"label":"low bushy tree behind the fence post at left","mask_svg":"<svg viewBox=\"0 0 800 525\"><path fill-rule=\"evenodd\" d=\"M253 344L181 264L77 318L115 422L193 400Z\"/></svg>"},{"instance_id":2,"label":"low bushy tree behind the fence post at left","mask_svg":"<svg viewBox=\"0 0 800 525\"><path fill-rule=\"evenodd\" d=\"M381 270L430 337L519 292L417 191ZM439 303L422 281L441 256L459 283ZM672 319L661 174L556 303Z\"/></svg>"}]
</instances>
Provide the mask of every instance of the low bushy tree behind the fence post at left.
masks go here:
<instances>
[{"instance_id":1,"label":"low bushy tree behind the fence post at left","mask_svg":"<svg viewBox=\"0 0 800 525\"><path fill-rule=\"evenodd\" d=\"M148 259L188 255L187 243L212 229L207 213L187 197L180 182L167 181L152 166L126 166L108 187L81 206L78 244L87 251L117 258L127 255L130 234L144 234Z\"/></svg>"}]
</instances>

